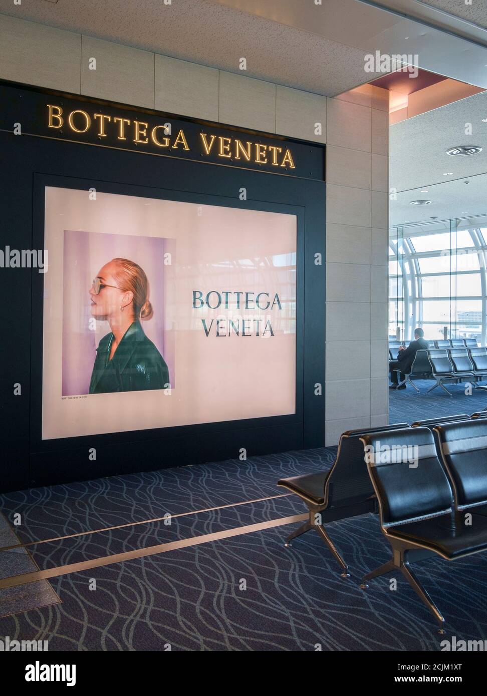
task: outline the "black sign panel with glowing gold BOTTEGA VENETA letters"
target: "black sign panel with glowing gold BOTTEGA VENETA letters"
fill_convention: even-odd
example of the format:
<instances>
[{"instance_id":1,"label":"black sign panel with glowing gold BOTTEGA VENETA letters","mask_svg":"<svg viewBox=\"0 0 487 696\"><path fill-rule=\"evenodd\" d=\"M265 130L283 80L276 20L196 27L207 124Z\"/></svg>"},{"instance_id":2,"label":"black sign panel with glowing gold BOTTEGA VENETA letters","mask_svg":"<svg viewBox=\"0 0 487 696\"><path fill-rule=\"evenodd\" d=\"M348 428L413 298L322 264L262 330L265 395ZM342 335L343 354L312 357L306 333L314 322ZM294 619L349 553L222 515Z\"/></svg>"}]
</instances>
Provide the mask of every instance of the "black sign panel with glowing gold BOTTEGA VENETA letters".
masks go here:
<instances>
[{"instance_id":1,"label":"black sign panel with glowing gold BOTTEGA VENETA letters","mask_svg":"<svg viewBox=\"0 0 487 696\"><path fill-rule=\"evenodd\" d=\"M316 143L1 84L0 99L0 129L15 134L325 180Z\"/></svg>"}]
</instances>

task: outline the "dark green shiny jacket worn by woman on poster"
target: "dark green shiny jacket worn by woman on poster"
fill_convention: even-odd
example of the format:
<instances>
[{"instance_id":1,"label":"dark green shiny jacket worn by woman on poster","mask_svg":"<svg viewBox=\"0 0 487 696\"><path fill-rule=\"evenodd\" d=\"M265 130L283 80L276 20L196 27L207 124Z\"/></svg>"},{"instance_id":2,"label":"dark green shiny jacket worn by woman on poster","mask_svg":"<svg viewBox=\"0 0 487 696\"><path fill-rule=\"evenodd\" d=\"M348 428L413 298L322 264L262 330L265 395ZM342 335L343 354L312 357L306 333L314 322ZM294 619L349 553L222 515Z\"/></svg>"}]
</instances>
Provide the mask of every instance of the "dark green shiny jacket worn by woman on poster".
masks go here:
<instances>
[{"instance_id":1,"label":"dark green shiny jacket worn by woman on poster","mask_svg":"<svg viewBox=\"0 0 487 696\"><path fill-rule=\"evenodd\" d=\"M107 333L96 349L90 394L167 388L168 367L140 322L130 324L109 360L113 337L113 333Z\"/></svg>"}]
</instances>

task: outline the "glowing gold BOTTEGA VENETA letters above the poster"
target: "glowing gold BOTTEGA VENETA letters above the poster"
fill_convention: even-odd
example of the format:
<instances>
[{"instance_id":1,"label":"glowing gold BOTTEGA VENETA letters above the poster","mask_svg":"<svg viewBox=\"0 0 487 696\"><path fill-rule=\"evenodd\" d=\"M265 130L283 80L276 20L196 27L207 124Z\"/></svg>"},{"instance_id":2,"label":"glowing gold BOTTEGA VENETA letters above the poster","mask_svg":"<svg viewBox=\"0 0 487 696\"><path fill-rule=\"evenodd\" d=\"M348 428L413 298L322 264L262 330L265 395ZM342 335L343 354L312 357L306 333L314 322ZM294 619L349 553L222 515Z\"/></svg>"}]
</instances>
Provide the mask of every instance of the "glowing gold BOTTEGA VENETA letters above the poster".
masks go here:
<instances>
[{"instance_id":1,"label":"glowing gold BOTTEGA VENETA letters above the poster","mask_svg":"<svg viewBox=\"0 0 487 696\"><path fill-rule=\"evenodd\" d=\"M96 130L99 138L106 138L107 130L111 129L111 136L118 141L132 139L137 145L153 143L157 148L171 148L172 150L187 150L191 148L182 128L175 134L169 134L169 125L151 125L148 121L137 118L122 118L107 113L88 113L84 109L73 109L65 113L58 104L47 104L47 126L61 129L67 126L74 133L86 133L92 128ZM172 129L171 129L172 132ZM222 159L235 159L256 164L270 164L275 167L295 169L293 155L289 148L279 145L267 145L256 143L252 140L238 139L200 132L199 140L201 152L204 155L215 154Z\"/></svg>"}]
</instances>

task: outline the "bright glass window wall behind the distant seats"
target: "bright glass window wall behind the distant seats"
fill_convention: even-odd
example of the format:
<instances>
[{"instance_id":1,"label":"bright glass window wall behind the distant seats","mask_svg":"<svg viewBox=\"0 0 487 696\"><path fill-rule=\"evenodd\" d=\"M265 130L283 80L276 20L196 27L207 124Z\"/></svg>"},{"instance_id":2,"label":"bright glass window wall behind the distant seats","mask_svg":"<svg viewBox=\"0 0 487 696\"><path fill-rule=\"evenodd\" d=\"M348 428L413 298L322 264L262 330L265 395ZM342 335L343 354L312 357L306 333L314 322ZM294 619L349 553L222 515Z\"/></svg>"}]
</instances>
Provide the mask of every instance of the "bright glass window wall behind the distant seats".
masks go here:
<instances>
[{"instance_id":1,"label":"bright glass window wall behind the distant seats","mask_svg":"<svg viewBox=\"0 0 487 696\"><path fill-rule=\"evenodd\" d=\"M486 345L487 215L389 230L389 340Z\"/></svg>"}]
</instances>

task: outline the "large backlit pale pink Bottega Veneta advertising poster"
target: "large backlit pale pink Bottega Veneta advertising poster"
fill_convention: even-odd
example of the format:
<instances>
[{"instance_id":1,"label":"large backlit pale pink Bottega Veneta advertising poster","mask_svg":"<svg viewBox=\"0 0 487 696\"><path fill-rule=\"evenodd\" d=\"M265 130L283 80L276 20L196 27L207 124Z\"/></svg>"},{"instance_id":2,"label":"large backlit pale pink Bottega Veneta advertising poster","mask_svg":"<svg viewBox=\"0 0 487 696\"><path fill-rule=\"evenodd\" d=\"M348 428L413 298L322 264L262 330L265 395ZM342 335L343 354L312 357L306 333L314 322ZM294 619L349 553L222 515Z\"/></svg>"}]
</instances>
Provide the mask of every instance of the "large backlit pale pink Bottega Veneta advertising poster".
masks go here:
<instances>
[{"instance_id":1,"label":"large backlit pale pink Bottega Veneta advertising poster","mask_svg":"<svg viewBox=\"0 0 487 696\"><path fill-rule=\"evenodd\" d=\"M42 439L295 413L296 217L46 187Z\"/></svg>"}]
</instances>

